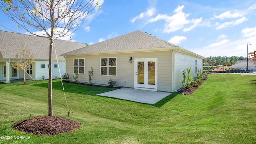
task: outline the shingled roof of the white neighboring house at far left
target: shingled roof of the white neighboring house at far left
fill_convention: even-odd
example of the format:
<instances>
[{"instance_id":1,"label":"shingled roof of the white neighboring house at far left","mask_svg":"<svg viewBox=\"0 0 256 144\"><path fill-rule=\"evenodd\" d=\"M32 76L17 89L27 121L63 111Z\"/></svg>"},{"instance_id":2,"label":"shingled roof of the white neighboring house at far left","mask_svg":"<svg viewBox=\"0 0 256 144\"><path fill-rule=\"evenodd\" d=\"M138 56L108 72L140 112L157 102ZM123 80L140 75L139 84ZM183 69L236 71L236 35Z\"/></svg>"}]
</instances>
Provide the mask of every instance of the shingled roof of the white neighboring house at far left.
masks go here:
<instances>
[{"instance_id":1,"label":"shingled roof of the white neighboring house at far left","mask_svg":"<svg viewBox=\"0 0 256 144\"><path fill-rule=\"evenodd\" d=\"M60 54L86 46L82 43L64 40L54 40L54 43L58 60L65 60ZM4 59L15 58L15 54L19 52L20 48L24 47L35 55L35 60L48 60L49 44L50 42L47 37L31 36L0 30L0 57L2 54ZM53 60L56 60L55 53L53 53Z\"/></svg>"}]
</instances>

